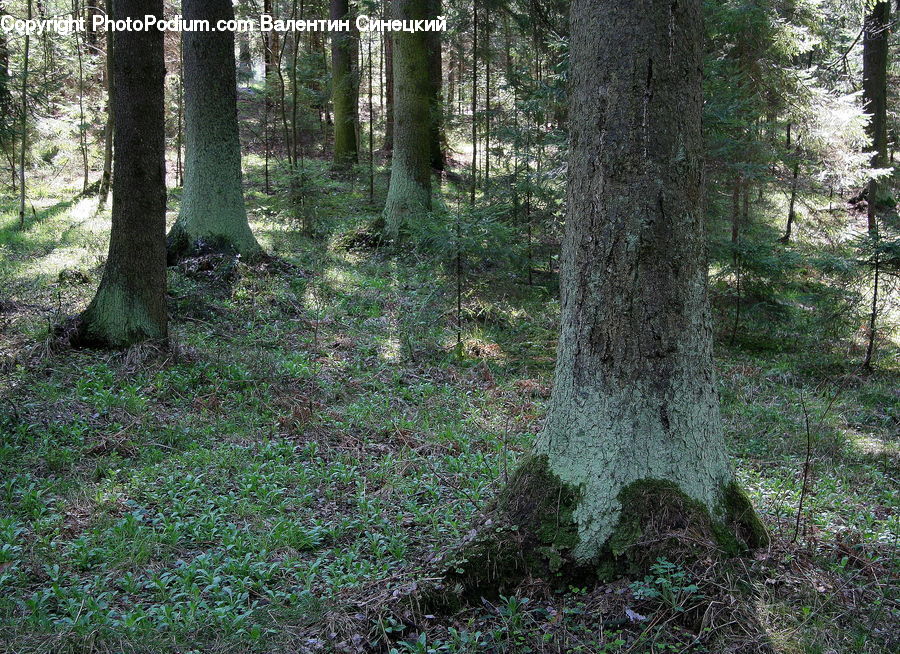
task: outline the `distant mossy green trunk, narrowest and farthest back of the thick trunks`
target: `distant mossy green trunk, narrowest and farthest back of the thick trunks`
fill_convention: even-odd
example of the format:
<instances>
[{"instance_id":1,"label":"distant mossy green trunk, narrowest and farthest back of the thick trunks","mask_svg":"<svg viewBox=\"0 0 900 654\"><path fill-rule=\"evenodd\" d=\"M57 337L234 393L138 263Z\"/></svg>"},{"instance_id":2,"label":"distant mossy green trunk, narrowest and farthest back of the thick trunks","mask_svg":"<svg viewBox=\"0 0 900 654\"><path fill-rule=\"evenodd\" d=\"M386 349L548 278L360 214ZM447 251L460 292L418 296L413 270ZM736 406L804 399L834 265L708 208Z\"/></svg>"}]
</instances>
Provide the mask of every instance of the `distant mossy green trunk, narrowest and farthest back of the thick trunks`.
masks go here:
<instances>
[{"instance_id":1,"label":"distant mossy green trunk, narrowest and farthest back of the thick trunks","mask_svg":"<svg viewBox=\"0 0 900 654\"><path fill-rule=\"evenodd\" d=\"M331 35L331 99L334 103L334 166L348 168L359 161L359 71L354 66L359 38L349 0L331 0L331 20L350 20L352 30Z\"/></svg>"}]
</instances>

